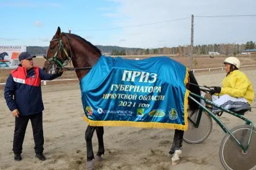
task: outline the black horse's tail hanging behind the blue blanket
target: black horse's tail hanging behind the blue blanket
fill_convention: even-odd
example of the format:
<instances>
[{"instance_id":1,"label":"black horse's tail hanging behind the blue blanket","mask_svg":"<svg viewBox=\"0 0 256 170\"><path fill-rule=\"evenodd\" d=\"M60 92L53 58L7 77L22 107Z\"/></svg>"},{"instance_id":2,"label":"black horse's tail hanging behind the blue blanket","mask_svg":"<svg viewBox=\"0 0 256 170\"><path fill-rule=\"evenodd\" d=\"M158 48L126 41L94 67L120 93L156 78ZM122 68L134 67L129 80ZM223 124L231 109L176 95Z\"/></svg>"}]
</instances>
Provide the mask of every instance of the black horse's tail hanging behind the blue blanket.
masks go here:
<instances>
[{"instance_id":1,"label":"black horse's tail hanging behind the blue blanket","mask_svg":"<svg viewBox=\"0 0 256 170\"><path fill-rule=\"evenodd\" d=\"M200 96L201 91L199 86L196 86L198 85L198 83L196 81L195 75L193 74L193 71L190 70L188 74L189 74L189 80L192 83L192 84L189 84L189 91ZM199 97L195 97L194 99L196 99L200 103ZM199 105L189 97L188 97L188 105L189 105L189 109L191 109L192 112L196 112L199 109Z\"/></svg>"}]
</instances>

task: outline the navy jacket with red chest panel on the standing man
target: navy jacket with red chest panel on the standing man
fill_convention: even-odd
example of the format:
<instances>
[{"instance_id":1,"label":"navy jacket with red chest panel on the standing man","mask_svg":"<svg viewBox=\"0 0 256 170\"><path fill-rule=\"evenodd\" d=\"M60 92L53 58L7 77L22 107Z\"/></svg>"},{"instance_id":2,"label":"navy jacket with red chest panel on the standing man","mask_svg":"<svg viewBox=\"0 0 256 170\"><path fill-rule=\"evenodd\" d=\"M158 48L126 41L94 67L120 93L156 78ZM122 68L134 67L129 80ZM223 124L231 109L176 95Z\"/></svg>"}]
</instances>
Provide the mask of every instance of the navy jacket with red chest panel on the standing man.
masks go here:
<instances>
[{"instance_id":1,"label":"navy jacket with red chest panel on the standing man","mask_svg":"<svg viewBox=\"0 0 256 170\"><path fill-rule=\"evenodd\" d=\"M5 100L10 111L18 109L24 116L42 112L41 80L52 80L60 75L49 75L39 67L27 70L18 66L11 71L5 84Z\"/></svg>"}]
</instances>

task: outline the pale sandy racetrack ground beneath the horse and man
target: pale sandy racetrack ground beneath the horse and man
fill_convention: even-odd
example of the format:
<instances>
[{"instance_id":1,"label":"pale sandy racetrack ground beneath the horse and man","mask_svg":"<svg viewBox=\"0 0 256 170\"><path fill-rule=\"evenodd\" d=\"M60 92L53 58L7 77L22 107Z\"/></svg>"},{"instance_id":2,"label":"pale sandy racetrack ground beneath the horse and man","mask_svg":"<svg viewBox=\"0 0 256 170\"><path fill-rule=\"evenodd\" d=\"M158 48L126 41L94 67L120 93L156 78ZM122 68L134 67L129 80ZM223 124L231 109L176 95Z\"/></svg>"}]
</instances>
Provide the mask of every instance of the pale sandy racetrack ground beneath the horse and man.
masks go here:
<instances>
[{"instance_id":1,"label":"pale sandy racetrack ground beneath the horse and man","mask_svg":"<svg viewBox=\"0 0 256 170\"><path fill-rule=\"evenodd\" d=\"M256 71L246 70L256 91ZM196 74L201 85L217 86L225 73ZM80 89L77 82L43 86L44 154L46 161L35 158L32 128L29 122L23 143L22 161L15 162L12 152L14 117L11 116L0 90L0 168L1 169L84 169L87 123L84 116ZM255 100L255 99L254 99ZM256 101L253 111L245 115L256 122ZM221 120L229 128L244 124L236 117L223 114ZM174 130L130 127L105 127L105 155L96 162L96 169L224 169L219 160L219 147L224 131L214 122L213 131L203 143L183 143L181 162L171 165L168 151ZM254 141L255 142L255 141ZM97 152L96 133L93 136L94 153ZM232 154L232 153L230 153Z\"/></svg>"}]
</instances>

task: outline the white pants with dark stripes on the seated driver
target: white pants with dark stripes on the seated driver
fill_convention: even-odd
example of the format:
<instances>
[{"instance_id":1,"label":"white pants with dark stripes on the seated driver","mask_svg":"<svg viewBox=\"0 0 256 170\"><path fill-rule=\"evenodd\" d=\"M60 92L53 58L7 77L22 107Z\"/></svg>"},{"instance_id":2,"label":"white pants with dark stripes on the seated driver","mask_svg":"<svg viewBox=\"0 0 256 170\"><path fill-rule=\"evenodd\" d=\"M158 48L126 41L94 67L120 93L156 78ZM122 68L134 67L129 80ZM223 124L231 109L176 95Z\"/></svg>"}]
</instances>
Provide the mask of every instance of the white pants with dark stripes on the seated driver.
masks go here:
<instances>
[{"instance_id":1,"label":"white pants with dark stripes on the seated driver","mask_svg":"<svg viewBox=\"0 0 256 170\"><path fill-rule=\"evenodd\" d=\"M205 94L202 94L201 96L204 97ZM231 97L229 95L222 95L222 96L216 96L212 95L212 101L214 104L217 104L225 109L231 109L231 108L240 108L243 106L250 106L248 101L245 98L239 97ZM201 104L205 105L204 100L201 100ZM217 107L212 108L213 113L222 112Z\"/></svg>"}]
</instances>

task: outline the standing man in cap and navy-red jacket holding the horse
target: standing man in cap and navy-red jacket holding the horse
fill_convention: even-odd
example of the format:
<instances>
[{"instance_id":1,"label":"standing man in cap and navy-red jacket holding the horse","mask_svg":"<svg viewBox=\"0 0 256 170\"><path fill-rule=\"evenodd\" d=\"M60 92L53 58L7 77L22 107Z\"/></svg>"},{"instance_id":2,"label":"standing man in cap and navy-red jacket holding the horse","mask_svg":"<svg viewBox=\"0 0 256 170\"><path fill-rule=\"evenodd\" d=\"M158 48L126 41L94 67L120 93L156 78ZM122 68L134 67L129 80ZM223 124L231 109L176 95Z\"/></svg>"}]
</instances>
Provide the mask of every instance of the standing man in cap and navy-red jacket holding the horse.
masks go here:
<instances>
[{"instance_id":1,"label":"standing man in cap and navy-red jacket holding the horse","mask_svg":"<svg viewBox=\"0 0 256 170\"><path fill-rule=\"evenodd\" d=\"M20 65L11 71L5 85L5 100L13 116L15 116L15 130L13 140L14 160L21 160L22 144L28 120L31 121L35 142L36 158L46 160L43 155L43 115L44 110L41 80L52 80L60 74L49 75L34 66L32 58L27 52L19 54Z\"/></svg>"}]
</instances>

